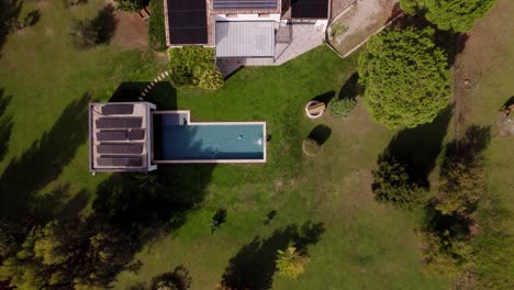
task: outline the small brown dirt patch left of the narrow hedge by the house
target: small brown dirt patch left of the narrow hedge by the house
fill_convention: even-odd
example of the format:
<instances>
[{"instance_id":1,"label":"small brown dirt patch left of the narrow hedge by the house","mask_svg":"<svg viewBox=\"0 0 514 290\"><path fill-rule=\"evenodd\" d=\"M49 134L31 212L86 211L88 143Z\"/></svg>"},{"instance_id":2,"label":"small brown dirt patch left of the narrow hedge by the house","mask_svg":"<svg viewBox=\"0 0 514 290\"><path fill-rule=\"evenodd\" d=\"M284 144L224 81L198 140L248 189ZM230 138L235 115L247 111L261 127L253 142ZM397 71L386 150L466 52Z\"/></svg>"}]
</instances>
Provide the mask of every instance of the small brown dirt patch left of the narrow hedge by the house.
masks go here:
<instances>
[{"instance_id":1,"label":"small brown dirt patch left of the narrow hedge by the house","mask_svg":"<svg viewBox=\"0 0 514 290\"><path fill-rule=\"evenodd\" d=\"M116 11L116 31L112 44L127 48L146 49L148 47L148 22L137 13Z\"/></svg>"}]
</instances>

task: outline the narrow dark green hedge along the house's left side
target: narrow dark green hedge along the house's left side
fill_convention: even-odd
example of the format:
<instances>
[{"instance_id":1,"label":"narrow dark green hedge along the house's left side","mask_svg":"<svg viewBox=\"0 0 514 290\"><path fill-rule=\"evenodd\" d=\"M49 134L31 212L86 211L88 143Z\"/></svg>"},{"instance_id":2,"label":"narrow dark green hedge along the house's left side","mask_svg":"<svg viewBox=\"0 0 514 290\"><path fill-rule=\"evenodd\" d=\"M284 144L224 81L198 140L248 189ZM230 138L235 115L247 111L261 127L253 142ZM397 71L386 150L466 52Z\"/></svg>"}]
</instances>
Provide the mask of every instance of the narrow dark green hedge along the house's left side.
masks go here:
<instances>
[{"instance_id":1,"label":"narrow dark green hedge along the house's left side","mask_svg":"<svg viewBox=\"0 0 514 290\"><path fill-rule=\"evenodd\" d=\"M164 1L149 2L152 16L148 21L148 43L155 51L166 49L166 25L164 15Z\"/></svg>"}]
</instances>

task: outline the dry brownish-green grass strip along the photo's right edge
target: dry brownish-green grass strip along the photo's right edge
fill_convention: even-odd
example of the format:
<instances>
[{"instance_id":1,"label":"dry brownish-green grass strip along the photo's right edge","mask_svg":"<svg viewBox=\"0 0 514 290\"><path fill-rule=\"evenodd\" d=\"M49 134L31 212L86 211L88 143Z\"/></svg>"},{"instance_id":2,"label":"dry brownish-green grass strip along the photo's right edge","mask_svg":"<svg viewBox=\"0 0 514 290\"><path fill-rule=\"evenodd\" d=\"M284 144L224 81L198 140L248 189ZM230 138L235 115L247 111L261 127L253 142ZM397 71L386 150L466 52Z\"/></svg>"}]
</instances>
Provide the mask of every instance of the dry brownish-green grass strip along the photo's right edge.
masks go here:
<instances>
[{"instance_id":1,"label":"dry brownish-green grass strip along the photo's right edge","mask_svg":"<svg viewBox=\"0 0 514 290\"><path fill-rule=\"evenodd\" d=\"M487 150L489 192L480 207L482 236L476 241L477 269L491 289L514 287L514 137L500 137L495 122L499 110L514 97L514 2L499 0L469 33L457 66L472 88L460 96L463 125L490 126ZM483 51L484 45L488 46ZM462 80L460 80L462 81ZM512 113L511 113L512 118ZM498 214L503 212L502 214Z\"/></svg>"}]
</instances>

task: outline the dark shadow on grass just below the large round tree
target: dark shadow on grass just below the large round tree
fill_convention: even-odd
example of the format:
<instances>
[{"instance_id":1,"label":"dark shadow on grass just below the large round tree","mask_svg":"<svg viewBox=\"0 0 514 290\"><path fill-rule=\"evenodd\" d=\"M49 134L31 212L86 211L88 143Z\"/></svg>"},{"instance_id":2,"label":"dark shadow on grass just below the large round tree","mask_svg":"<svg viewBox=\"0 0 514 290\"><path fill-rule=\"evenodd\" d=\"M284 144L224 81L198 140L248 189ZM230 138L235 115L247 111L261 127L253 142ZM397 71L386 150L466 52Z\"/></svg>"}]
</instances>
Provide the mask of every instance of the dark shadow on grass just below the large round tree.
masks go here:
<instances>
[{"instance_id":1,"label":"dark shadow on grass just below the large round tree","mask_svg":"<svg viewBox=\"0 0 514 290\"><path fill-rule=\"evenodd\" d=\"M392 157L405 166L415 183L429 188L428 176L443 149L451 114L452 105L448 105L432 123L400 131L379 156L378 163Z\"/></svg>"}]
</instances>

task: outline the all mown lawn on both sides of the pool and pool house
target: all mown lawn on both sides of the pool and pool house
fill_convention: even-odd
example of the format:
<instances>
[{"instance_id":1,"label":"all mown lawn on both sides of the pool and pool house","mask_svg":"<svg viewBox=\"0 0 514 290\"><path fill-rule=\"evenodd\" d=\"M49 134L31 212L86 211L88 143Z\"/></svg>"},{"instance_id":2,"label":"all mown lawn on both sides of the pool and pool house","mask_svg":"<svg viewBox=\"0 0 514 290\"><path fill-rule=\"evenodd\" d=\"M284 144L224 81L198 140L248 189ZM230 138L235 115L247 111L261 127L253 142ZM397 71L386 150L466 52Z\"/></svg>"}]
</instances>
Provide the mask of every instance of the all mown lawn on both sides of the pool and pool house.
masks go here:
<instances>
[{"instance_id":1,"label":"all mown lawn on both sides of the pool and pool house","mask_svg":"<svg viewBox=\"0 0 514 290\"><path fill-rule=\"evenodd\" d=\"M132 89L161 69L152 56L123 47L70 47L71 20L94 16L99 1L71 11L60 0L24 9L30 5L37 5L41 21L10 35L0 58L0 89L12 96L5 112L12 131L3 138L9 142L0 161L0 209L12 208L12 215L19 213L13 204L23 207L36 192L65 183L71 194L97 199L94 189L109 176L88 172L86 103L113 94L131 98ZM157 174L174 198L195 200L195 208L172 234L145 245L135 255L142 268L121 272L114 287L127 289L183 266L191 289L212 289L223 278L275 289L448 288L446 278L422 272L414 232L420 214L372 199L371 170L395 132L370 122L361 103L345 120L303 115L312 98L337 98L355 65L355 56L342 60L320 47L281 67L245 68L216 91L158 85L149 100L160 109L191 110L194 121L266 121L269 161L160 166ZM301 142L319 125L329 127L326 142L317 157L305 158ZM435 134L438 141L432 159L446 132L447 123L442 125L421 129L428 132L424 138ZM226 222L211 235L209 223L220 209L226 210ZM276 216L265 223L272 211ZM311 261L298 280L286 280L273 274L276 250L299 233Z\"/></svg>"}]
</instances>

